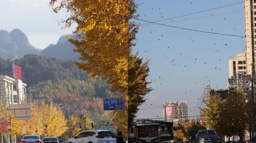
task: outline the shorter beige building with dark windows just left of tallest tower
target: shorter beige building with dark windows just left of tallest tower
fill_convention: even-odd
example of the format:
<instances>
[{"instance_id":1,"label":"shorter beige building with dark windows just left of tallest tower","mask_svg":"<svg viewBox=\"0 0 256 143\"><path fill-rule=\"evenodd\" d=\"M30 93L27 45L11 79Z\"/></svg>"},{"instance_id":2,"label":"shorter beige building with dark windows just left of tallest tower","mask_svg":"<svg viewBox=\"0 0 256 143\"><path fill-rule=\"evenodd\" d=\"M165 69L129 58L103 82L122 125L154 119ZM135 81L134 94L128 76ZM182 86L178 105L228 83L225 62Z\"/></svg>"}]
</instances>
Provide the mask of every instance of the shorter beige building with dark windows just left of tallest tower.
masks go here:
<instances>
[{"instance_id":1,"label":"shorter beige building with dark windows just left of tallest tower","mask_svg":"<svg viewBox=\"0 0 256 143\"><path fill-rule=\"evenodd\" d=\"M228 63L229 63L229 78L234 76L234 74L238 74L238 73L247 74L245 53L237 54L237 57L231 58Z\"/></svg>"}]
</instances>

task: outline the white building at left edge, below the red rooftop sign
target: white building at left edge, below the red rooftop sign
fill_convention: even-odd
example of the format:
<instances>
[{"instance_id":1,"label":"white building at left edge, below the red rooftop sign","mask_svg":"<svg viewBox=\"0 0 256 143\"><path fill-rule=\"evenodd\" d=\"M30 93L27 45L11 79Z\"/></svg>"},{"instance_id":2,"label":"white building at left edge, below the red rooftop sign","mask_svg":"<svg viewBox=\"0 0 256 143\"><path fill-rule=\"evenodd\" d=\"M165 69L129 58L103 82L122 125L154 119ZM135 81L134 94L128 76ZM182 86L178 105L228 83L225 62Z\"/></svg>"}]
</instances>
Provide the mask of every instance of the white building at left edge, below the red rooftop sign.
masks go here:
<instances>
[{"instance_id":1,"label":"white building at left edge, below the red rooftop sign","mask_svg":"<svg viewBox=\"0 0 256 143\"><path fill-rule=\"evenodd\" d=\"M14 84L13 84L14 83ZM0 103L21 104L26 100L26 84L9 76L0 76Z\"/></svg>"}]
</instances>

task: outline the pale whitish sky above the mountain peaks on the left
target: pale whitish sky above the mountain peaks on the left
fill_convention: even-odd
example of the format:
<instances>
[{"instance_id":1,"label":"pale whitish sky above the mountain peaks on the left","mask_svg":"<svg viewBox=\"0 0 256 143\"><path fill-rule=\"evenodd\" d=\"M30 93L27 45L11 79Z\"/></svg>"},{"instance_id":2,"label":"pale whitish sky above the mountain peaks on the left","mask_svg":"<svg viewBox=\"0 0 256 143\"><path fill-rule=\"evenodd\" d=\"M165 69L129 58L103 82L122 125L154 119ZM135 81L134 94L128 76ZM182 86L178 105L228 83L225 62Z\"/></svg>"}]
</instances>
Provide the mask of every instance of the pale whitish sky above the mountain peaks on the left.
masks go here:
<instances>
[{"instance_id":1,"label":"pale whitish sky above the mountain peaks on the left","mask_svg":"<svg viewBox=\"0 0 256 143\"><path fill-rule=\"evenodd\" d=\"M36 48L56 44L61 35L70 34L73 29L61 29L57 20L65 18L66 13L52 12L48 3L49 0L0 0L0 30L19 28Z\"/></svg>"}]
</instances>

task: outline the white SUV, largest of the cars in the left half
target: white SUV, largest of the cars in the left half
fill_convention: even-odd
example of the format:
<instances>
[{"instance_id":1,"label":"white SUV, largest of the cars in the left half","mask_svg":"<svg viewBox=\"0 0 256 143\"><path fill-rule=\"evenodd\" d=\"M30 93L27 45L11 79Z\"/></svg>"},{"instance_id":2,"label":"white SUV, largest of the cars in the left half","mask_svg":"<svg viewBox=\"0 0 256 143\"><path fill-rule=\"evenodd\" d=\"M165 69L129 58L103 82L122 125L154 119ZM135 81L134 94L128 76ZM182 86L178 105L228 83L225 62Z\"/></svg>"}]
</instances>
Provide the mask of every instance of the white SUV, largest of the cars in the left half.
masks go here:
<instances>
[{"instance_id":1,"label":"white SUV, largest of the cars in the left half","mask_svg":"<svg viewBox=\"0 0 256 143\"><path fill-rule=\"evenodd\" d=\"M86 130L69 139L67 143L116 143L116 136L107 130Z\"/></svg>"}]
</instances>

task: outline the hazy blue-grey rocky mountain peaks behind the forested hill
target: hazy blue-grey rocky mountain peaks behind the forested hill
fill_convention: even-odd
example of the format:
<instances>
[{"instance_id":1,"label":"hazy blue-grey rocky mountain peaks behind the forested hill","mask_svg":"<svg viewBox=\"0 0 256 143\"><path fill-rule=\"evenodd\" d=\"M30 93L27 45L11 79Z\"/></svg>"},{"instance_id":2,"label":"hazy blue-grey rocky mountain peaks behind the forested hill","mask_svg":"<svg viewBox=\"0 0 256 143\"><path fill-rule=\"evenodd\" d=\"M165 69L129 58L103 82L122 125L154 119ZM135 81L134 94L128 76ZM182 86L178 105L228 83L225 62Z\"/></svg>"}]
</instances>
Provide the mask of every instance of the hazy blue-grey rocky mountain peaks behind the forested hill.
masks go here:
<instances>
[{"instance_id":1,"label":"hazy blue-grey rocky mountain peaks behind the forested hill","mask_svg":"<svg viewBox=\"0 0 256 143\"><path fill-rule=\"evenodd\" d=\"M75 35L71 34L71 38ZM27 36L20 29L8 32L0 30L0 57L3 59L19 59L26 54L37 54L61 60L78 60L79 54L74 53L74 46L65 36L61 36L57 44L50 44L43 50L30 45ZM61 52L60 52L61 51Z\"/></svg>"}]
</instances>

